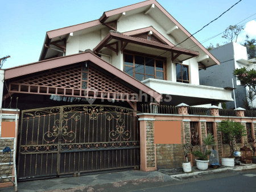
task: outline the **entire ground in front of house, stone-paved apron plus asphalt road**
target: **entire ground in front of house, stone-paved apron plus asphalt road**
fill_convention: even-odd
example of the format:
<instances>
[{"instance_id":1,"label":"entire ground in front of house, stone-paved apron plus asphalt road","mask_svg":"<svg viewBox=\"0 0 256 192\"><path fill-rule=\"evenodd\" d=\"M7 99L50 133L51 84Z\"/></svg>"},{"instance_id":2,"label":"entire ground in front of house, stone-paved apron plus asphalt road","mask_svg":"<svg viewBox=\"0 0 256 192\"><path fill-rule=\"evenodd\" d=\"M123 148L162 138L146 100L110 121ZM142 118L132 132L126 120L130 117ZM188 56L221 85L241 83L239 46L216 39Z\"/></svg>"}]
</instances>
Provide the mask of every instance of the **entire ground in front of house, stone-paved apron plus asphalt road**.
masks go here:
<instances>
[{"instance_id":1,"label":"entire ground in front of house, stone-paved apron plus asphalt road","mask_svg":"<svg viewBox=\"0 0 256 192\"><path fill-rule=\"evenodd\" d=\"M11 192L14 191L14 188L0 188L0 191ZM256 169L229 170L186 178L172 178L160 172L130 170L81 177L18 182L18 192L32 191L256 191Z\"/></svg>"}]
</instances>

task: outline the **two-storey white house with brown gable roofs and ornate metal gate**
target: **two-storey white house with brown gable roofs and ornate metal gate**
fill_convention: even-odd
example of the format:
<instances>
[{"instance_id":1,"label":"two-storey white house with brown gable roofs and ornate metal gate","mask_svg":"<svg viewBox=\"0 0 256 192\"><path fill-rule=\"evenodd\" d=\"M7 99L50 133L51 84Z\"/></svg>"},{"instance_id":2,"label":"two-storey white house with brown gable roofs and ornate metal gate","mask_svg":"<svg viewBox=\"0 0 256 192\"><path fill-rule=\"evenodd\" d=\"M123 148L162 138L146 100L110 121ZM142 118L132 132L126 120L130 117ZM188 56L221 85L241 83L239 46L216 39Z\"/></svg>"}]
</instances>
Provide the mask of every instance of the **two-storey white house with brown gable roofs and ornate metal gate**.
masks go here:
<instances>
[{"instance_id":1,"label":"two-storey white house with brown gable roofs and ornate metal gate","mask_svg":"<svg viewBox=\"0 0 256 192\"><path fill-rule=\"evenodd\" d=\"M38 62L1 75L2 108L20 109L18 180L179 165L182 157L154 144L154 119L184 120L189 128L187 105L233 101L232 91L199 84L199 69L220 62L193 36L181 43L188 36L155 0L48 31ZM143 112L180 103L187 105L171 118Z\"/></svg>"}]
</instances>

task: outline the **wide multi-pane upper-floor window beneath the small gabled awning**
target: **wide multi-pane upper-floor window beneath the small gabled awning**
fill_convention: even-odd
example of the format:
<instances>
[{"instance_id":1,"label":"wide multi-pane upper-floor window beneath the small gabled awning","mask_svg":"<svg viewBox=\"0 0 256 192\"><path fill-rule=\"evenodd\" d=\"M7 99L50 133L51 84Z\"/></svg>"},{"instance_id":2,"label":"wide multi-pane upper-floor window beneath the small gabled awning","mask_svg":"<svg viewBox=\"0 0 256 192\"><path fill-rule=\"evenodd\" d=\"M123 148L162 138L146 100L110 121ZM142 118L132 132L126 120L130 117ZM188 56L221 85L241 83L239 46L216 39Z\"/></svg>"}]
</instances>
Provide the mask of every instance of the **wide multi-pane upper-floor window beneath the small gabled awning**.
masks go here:
<instances>
[{"instance_id":1,"label":"wide multi-pane upper-floor window beneath the small gabled awning","mask_svg":"<svg viewBox=\"0 0 256 192\"><path fill-rule=\"evenodd\" d=\"M124 54L124 72L136 78L139 81L147 78L156 78L165 80L165 66L163 59L154 59L154 57Z\"/></svg>"}]
</instances>

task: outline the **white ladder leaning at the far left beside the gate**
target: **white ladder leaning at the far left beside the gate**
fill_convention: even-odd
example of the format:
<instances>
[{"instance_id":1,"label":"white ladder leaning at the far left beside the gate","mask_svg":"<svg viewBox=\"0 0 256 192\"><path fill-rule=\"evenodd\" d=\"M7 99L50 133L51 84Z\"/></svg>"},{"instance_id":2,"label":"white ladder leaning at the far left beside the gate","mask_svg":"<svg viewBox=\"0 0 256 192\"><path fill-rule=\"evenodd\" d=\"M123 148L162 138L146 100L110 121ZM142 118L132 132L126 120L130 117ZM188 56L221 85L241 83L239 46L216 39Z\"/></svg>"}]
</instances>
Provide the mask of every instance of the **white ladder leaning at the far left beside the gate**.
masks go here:
<instances>
[{"instance_id":1,"label":"white ladder leaning at the far left beside the gate","mask_svg":"<svg viewBox=\"0 0 256 192\"><path fill-rule=\"evenodd\" d=\"M9 115L13 116L14 114L9 114ZM3 139L3 140L13 139L14 140L13 149L11 149L11 152L13 152L13 157L12 157L13 162L10 162L10 164L13 164L14 176L6 176L3 174L0 176L0 180L7 178L9 181L11 181L15 186L15 192L18 191L18 189L17 189L17 174L16 174L16 138L17 138L17 129L18 129L17 120L18 120L18 109L17 109L16 115L15 115L15 137L1 137L1 127L0 127L0 139ZM2 123L2 108L1 108L1 114L0 114L0 123ZM3 149L0 149L0 152L2 150ZM1 165L9 165L9 162L0 162L0 166ZM14 178L14 181L11 180L11 178Z\"/></svg>"}]
</instances>

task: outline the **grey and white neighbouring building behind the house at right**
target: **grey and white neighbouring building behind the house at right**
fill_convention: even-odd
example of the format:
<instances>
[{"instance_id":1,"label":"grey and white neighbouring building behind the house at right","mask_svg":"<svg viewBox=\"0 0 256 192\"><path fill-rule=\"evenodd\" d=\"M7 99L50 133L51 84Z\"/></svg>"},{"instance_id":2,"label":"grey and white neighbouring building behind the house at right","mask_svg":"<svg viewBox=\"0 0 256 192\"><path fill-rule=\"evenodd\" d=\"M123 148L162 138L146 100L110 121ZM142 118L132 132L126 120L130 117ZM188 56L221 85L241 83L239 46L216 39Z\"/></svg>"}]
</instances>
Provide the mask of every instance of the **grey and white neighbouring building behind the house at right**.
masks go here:
<instances>
[{"instance_id":1,"label":"grey and white neighbouring building behind the house at right","mask_svg":"<svg viewBox=\"0 0 256 192\"><path fill-rule=\"evenodd\" d=\"M214 87L233 87L236 97L236 107L245 108L246 89L241 86L240 81L234 77L234 69L246 67L255 69L255 59L250 59L251 54L247 54L246 47L238 43L228 43L221 47L210 50L219 61L220 66L212 66L206 70L199 71L200 85ZM232 93L232 98L234 95ZM256 106L256 101L253 102L253 107ZM235 108L234 102L226 102L227 108Z\"/></svg>"}]
</instances>

